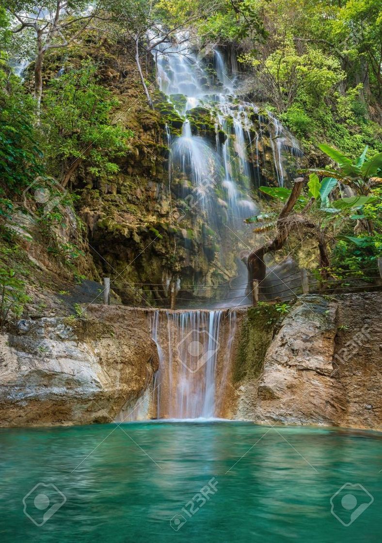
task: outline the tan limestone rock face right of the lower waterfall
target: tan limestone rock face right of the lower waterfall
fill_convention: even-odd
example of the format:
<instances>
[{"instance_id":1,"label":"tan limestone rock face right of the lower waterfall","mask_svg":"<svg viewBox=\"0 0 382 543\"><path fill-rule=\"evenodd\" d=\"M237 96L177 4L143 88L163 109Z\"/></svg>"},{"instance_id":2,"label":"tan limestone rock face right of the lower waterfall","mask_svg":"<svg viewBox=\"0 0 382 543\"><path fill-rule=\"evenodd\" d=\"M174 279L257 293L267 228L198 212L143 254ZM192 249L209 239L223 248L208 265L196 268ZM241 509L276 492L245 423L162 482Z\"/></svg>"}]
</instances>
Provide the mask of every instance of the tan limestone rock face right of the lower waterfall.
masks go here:
<instances>
[{"instance_id":1,"label":"tan limestone rock face right of the lower waterfall","mask_svg":"<svg viewBox=\"0 0 382 543\"><path fill-rule=\"evenodd\" d=\"M381 428L381 303L380 293L301 296L271 340L258 378L239 383L235 416ZM245 409L241 396L250 398Z\"/></svg>"}]
</instances>

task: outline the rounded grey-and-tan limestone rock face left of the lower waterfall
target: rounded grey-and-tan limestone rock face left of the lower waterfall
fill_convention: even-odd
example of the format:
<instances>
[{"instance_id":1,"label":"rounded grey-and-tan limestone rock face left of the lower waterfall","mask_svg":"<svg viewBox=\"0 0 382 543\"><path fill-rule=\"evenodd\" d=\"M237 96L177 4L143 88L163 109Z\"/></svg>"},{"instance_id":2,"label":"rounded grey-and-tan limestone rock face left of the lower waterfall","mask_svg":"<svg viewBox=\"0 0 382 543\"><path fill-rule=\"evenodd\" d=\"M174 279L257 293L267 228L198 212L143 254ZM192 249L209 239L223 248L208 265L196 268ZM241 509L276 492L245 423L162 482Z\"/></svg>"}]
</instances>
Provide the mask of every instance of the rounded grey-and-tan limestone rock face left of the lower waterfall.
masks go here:
<instances>
[{"instance_id":1,"label":"rounded grey-and-tan limestone rock face left of the lower waterfall","mask_svg":"<svg viewBox=\"0 0 382 543\"><path fill-rule=\"evenodd\" d=\"M158 367L146 315L90 313L22 320L1 336L1 426L110 422L133 408Z\"/></svg>"}]
</instances>

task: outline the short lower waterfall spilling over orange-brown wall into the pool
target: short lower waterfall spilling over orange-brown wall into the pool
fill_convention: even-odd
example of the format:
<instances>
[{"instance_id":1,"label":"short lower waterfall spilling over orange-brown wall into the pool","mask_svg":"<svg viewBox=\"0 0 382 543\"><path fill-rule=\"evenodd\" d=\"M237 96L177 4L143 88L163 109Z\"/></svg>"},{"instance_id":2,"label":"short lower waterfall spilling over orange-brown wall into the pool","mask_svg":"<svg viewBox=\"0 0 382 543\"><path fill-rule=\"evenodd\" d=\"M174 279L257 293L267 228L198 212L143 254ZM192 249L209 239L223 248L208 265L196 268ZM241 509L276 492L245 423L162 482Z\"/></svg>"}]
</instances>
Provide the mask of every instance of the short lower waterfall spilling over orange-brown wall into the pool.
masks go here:
<instances>
[{"instance_id":1,"label":"short lower waterfall spilling over orange-brown wall into the pool","mask_svg":"<svg viewBox=\"0 0 382 543\"><path fill-rule=\"evenodd\" d=\"M236 313L155 311L149 319L160 358L152 390L156 418L224 416Z\"/></svg>"}]
</instances>

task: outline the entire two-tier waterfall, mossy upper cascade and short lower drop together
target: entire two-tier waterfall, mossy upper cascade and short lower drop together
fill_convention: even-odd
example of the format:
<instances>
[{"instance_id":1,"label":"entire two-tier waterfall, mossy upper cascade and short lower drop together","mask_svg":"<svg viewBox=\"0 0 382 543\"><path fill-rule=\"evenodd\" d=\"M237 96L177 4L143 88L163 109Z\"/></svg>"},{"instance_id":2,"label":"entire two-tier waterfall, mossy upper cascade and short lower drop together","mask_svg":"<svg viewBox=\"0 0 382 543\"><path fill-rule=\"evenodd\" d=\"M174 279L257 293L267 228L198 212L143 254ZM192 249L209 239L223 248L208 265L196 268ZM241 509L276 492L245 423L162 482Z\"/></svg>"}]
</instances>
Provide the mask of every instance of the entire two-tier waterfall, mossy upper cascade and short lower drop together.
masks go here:
<instances>
[{"instance_id":1,"label":"entire two-tier waterfall, mossy upper cascade and short lower drop together","mask_svg":"<svg viewBox=\"0 0 382 543\"><path fill-rule=\"evenodd\" d=\"M204 232L215 236L218 250L214 251L222 269L225 260L230 260L224 251L239 255L248 243L253 245L252 228L243 219L259 211L256 188L283 186L288 164L300 150L271 112L244 99L232 50L225 53L215 48L203 59L186 32L180 31L171 41L161 38L157 32L148 36L157 84L167 97L169 111L179 116L175 122L169 117L165 124L171 213L184 201L177 220L187 217L195 226L193 239L199 236L205 251ZM198 116L203 117L202 122ZM187 244L184 248L190 249ZM150 394L145 393L138 405L148 413L150 396L149 411L154 418L226 416L237 316L223 308L245 300L247 276L239 259L236 266L237 277L230 280L233 294L209 305L210 310L149 312L160 363ZM182 288L182 277L177 288Z\"/></svg>"}]
</instances>

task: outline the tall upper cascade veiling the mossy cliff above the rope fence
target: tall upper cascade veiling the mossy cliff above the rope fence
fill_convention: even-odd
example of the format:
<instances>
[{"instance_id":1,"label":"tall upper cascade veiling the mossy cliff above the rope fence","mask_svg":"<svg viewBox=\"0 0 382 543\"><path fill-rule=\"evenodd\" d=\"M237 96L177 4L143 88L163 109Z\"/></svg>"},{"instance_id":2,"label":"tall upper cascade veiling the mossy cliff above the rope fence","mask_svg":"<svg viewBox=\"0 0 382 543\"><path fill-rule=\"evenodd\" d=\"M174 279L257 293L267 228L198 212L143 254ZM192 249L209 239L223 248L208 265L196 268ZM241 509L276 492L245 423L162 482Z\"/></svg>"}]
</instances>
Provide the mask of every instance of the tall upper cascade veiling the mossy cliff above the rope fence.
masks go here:
<instances>
[{"instance_id":1,"label":"tall upper cascade veiling the mossy cliff above the rope fence","mask_svg":"<svg viewBox=\"0 0 382 543\"><path fill-rule=\"evenodd\" d=\"M253 246L244 219L260 210L260 185L287 182L300 149L270 111L245 95L232 55L219 48L199 50L186 31L162 39L149 36L152 45L158 41L152 49L158 87L176 115L165 127L169 192L181 201L173 220L181 225L188 217L207 258L213 251L215 267L228 265L228 278L236 274L243 286L246 270L239 254ZM189 250L187 243L184 247ZM209 307L246 303L244 292L244 286L234 289L224 303Z\"/></svg>"}]
</instances>

